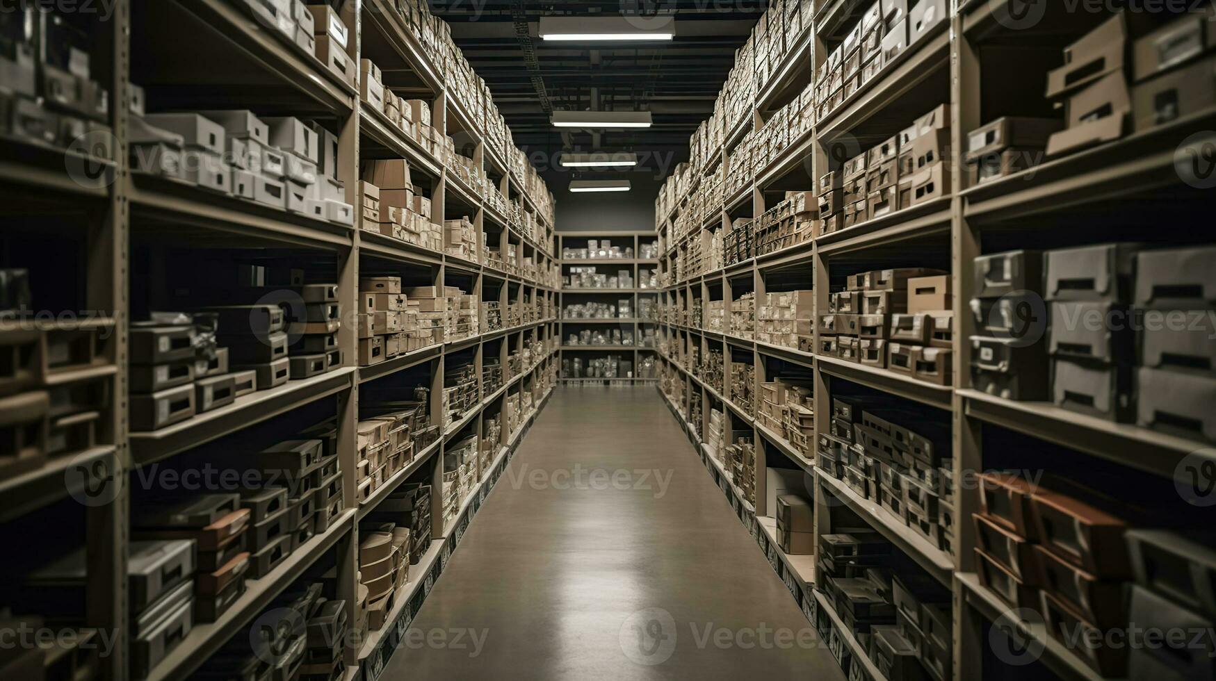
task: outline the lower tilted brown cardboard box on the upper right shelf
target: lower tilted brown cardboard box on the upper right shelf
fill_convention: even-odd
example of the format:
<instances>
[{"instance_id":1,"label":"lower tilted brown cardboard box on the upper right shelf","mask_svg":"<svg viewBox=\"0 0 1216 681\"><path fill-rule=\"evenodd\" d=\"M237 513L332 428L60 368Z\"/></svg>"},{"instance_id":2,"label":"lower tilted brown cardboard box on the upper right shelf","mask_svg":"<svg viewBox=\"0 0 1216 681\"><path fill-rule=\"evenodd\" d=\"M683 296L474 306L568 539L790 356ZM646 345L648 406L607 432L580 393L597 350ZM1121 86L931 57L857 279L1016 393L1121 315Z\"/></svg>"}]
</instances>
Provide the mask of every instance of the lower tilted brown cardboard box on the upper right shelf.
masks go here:
<instances>
[{"instance_id":1,"label":"lower tilted brown cardboard box on the upper right shelf","mask_svg":"<svg viewBox=\"0 0 1216 681\"><path fill-rule=\"evenodd\" d=\"M1077 91L1069 97L1065 108L1069 126L1047 141L1048 157L1122 137L1132 108L1122 71Z\"/></svg>"}]
</instances>

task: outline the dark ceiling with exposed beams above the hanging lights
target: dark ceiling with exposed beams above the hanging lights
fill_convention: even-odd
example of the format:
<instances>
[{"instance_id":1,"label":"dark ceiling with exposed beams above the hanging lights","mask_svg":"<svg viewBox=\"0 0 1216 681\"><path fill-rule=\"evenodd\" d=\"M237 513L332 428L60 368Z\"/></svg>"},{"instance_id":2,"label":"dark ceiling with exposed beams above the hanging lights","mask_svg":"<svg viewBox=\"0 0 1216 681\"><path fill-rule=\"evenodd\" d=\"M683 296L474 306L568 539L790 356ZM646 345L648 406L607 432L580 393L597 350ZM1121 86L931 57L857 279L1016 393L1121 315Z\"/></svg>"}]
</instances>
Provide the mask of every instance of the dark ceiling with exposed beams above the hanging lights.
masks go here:
<instances>
[{"instance_id":1,"label":"dark ceiling with exposed beams above the hanging lights","mask_svg":"<svg viewBox=\"0 0 1216 681\"><path fill-rule=\"evenodd\" d=\"M764 13L762 0L619 0L523 2L432 0L452 38L485 79L514 141L529 152L636 151L675 153L714 112L734 50ZM670 43L545 43L541 16L619 16L623 11L676 16ZM551 111L649 111L648 129L558 131ZM598 139L596 139L598 137ZM644 159L646 157L642 156ZM670 158L670 157L669 157Z\"/></svg>"}]
</instances>

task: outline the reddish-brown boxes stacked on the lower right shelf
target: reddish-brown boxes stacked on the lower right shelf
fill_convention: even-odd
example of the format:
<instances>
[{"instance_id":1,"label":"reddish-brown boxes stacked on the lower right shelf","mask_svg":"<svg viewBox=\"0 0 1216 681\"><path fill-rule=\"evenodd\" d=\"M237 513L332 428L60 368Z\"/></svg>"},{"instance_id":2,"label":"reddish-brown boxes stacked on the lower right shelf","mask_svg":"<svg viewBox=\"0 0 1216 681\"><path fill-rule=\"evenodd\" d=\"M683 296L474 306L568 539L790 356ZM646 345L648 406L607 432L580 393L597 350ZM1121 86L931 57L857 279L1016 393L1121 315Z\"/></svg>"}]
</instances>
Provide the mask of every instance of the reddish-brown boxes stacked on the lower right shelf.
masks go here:
<instances>
[{"instance_id":1,"label":"reddish-brown boxes stacked on the lower right shelf","mask_svg":"<svg viewBox=\"0 0 1216 681\"><path fill-rule=\"evenodd\" d=\"M1176 677L1172 670L1197 669L1200 655L1199 664L1207 665L1206 649L1182 651L1171 643L1153 649L1131 646L1143 649L1128 652L1128 646L1111 645L1107 635L1125 631L1128 623L1169 630L1180 621L1210 619L1169 598L1183 593L1180 586L1195 587L1199 591L1184 592L1184 602L1199 604L1194 595L1203 589L1193 580L1207 568L1194 569L1195 561L1206 561L1197 557L1209 550L1172 531L1130 530L1125 513L1154 522L1150 512L1071 480L1030 483L1015 474L985 473L980 483L980 513L973 522L984 586L1010 607L1041 615L1052 636L1104 677L1147 679L1166 669ZM1132 579L1137 584L1128 590ZM1083 636L1070 636L1074 631ZM1128 658L1138 674L1128 674Z\"/></svg>"}]
</instances>

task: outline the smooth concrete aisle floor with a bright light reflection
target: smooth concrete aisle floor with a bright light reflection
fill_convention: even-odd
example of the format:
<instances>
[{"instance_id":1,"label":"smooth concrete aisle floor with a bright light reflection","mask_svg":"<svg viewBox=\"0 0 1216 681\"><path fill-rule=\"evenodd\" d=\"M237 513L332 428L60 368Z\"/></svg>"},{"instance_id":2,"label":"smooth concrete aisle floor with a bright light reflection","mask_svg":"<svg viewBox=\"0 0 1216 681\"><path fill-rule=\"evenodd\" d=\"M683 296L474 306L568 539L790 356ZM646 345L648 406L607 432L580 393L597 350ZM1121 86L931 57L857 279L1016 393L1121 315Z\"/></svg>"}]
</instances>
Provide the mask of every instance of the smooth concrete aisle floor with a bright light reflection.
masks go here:
<instances>
[{"instance_id":1,"label":"smooth concrete aisle floor with a bright light reflection","mask_svg":"<svg viewBox=\"0 0 1216 681\"><path fill-rule=\"evenodd\" d=\"M411 629L383 679L844 679L654 388L558 388Z\"/></svg>"}]
</instances>

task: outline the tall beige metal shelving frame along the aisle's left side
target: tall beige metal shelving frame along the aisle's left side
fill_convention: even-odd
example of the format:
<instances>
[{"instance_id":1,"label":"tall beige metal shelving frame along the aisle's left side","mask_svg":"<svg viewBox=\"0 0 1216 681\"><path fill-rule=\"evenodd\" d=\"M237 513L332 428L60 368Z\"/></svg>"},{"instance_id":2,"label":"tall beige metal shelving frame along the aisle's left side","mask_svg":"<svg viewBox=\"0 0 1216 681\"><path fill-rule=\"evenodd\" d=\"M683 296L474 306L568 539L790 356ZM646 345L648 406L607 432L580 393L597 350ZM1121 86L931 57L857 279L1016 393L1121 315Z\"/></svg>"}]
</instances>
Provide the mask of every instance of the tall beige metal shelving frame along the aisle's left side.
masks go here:
<instances>
[{"instance_id":1,"label":"tall beige metal shelving frame along the aisle's left side","mask_svg":"<svg viewBox=\"0 0 1216 681\"><path fill-rule=\"evenodd\" d=\"M474 424L478 434L482 433L483 421L501 420L505 446L492 466L480 471L479 483L451 524L445 527L443 514L435 514L433 533L438 539L426 557L432 564L417 573L411 570L411 582L406 587L410 593L402 598L406 604L396 613L398 618L404 613L406 623L411 607L416 612L421 598L424 598L446 557L462 536L469 518L479 508L552 393L552 377L556 376L557 366L557 344L553 342L556 320L552 314L557 298L557 260L552 216L540 209L546 202L537 201L537 197L529 193L529 187L520 178L522 169L508 167L501 153L474 126L467 112L480 111L483 102L457 100L440 71L432 63L428 51L422 47L420 38L405 27L392 4L383 0L345 2L342 5L340 18L349 30L347 52L353 63L358 64L360 56L366 56L365 46L371 46L376 50L378 63L383 62L385 69L392 67L396 73L416 77L417 86L406 86L402 94L434 102L434 124L440 134L458 128L466 139L474 142L474 158L497 179L497 188L503 196L522 202L524 210L531 214L531 220L540 225L537 233L533 235L525 229L528 220L507 219L494 209L488 197L479 196L458 180L440 159L390 125L383 113L366 107L356 88L325 68L313 55L280 36L277 32L266 30L241 0L113 2L109 21L98 22L101 40L95 56L95 60L105 64L97 71L107 74L102 85L109 91L112 102L108 123L113 130L114 156L118 159L100 164L103 170L102 180L84 182L74 176L74 164L86 161L75 158L74 152L12 139L0 140L0 179L5 185L0 193L13 202L27 202L32 207L32 214L44 207L47 213L62 214L64 206L72 207L69 212L80 213L79 230L81 241L88 244L89 257L79 260L84 266L80 276L84 297L78 309L106 311L109 317L107 323L113 330L103 366L56 378L61 383L84 379L106 382L113 406L107 410L98 428L97 446L49 460L39 469L0 482L0 495L5 500L0 519L4 522L26 518L68 497L84 499L88 495L91 501L95 495L112 493L113 501L108 503L90 502L80 507L89 564L84 625L113 631L118 636L114 653L100 660L102 679L107 681L124 681L134 675L128 652L131 634L126 626L134 620L129 608L126 578L134 485L125 482L137 475L139 468L170 460L204 443L241 433L326 400L333 404L334 416L338 418L339 466L347 473L345 511L326 533L292 552L269 575L250 580L246 593L219 621L196 625L148 676L185 679L319 563L330 563L337 568L338 596L347 602L348 621L359 621L360 613L356 612L354 597L358 586L358 519L375 508L401 482L433 461L441 461L444 451L444 438L440 438L360 505L355 494L354 471L361 385L428 361L439 367L441 385L444 359L456 351L475 348L474 356L480 361L482 348L494 343L505 361L508 347L520 353L525 347L544 348L531 356L529 366L463 415L462 423ZM156 30L146 29L150 24L154 24ZM206 46L220 51L224 58L169 58L175 50L181 51L181 46L187 44L191 49L198 45L199 49ZM389 57L394 60L393 63L388 63ZM95 61L95 68L97 63ZM451 219L455 212L468 209L478 235L483 230L497 230L495 233L500 235L501 243L519 246L520 266L510 268L508 272L505 271L506 266L474 263L428 251L371 231L376 225L365 225L358 218L353 227L342 226L137 174L130 167L126 145L130 128L128 105L131 99L129 85L133 83L145 86L152 95L153 103L169 100L179 102L174 97L180 96L184 97L179 102L180 107L188 109L198 101L197 95L190 95L190 86L206 84L193 90L206 90L207 97L214 97L207 100L214 103L212 108L248 108L258 113L265 111L294 114L333 124L331 129L337 131L339 141L338 179L345 184L348 203L360 203L358 192L361 161L405 158L411 170L420 178L426 178L433 191L430 198L434 220ZM231 85L230 90L225 90L221 84ZM449 126L449 114L460 123L454 122ZM275 249L295 249L315 254L333 263L344 313L359 309L356 294L360 276L404 271L417 276L427 272L426 276L438 286L443 286L449 274L454 272L474 282L473 288L478 296L484 282L497 282L495 286L501 288L503 304L527 303L536 314L529 321L510 328L432 345L368 367L358 366L356 333L353 325L344 323L338 333L338 348L343 351L342 366L313 378L289 381L278 388L252 393L229 406L161 430L131 432L125 407L129 351L126 336L134 306L131 297L163 283L154 281L154 274L133 268L133 248L142 242L190 248L198 244L199 249L219 244L224 248L265 249L271 253ZM483 246L479 238L478 253L484 252ZM534 270L522 266L525 258L531 259ZM514 297L508 297L508 292ZM480 378L480 372L478 377ZM499 405L508 393L520 392L530 392L534 409L530 413L522 415L518 426L510 430L505 410ZM439 412L439 394L433 394L432 413ZM289 434L285 433L285 437ZM435 474L430 482L433 485L441 485L441 474ZM438 490L441 486L434 489L435 499L439 499ZM402 620L398 619L400 621ZM394 631L393 625L385 625L373 638L382 643L390 638L395 641ZM349 648L345 653L347 679L373 679L367 672L373 666L382 666L387 657L381 655L390 652L384 646Z\"/></svg>"}]
</instances>

